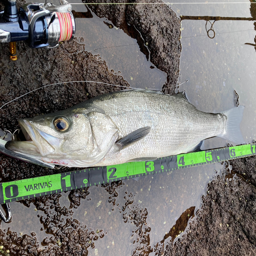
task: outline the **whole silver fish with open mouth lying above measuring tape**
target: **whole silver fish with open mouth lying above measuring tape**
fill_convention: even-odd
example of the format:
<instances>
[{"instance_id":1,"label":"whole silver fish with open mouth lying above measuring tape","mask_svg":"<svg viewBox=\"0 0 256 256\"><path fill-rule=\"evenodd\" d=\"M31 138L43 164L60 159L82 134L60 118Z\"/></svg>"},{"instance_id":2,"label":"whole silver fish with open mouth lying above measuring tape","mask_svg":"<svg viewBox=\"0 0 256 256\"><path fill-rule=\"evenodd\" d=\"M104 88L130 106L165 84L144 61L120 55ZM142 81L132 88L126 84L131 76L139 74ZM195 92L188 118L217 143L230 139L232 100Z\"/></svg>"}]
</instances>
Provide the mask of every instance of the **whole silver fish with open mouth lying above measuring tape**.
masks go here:
<instances>
[{"instance_id":1,"label":"whole silver fish with open mouth lying above measuring tape","mask_svg":"<svg viewBox=\"0 0 256 256\"><path fill-rule=\"evenodd\" d=\"M245 143L240 131L244 106L222 113L199 111L184 93L123 90L99 95L69 109L20 119L26 141L8 150L69 167L107 166L200 150L221 137Z\"/></svg>"}]
</instances>

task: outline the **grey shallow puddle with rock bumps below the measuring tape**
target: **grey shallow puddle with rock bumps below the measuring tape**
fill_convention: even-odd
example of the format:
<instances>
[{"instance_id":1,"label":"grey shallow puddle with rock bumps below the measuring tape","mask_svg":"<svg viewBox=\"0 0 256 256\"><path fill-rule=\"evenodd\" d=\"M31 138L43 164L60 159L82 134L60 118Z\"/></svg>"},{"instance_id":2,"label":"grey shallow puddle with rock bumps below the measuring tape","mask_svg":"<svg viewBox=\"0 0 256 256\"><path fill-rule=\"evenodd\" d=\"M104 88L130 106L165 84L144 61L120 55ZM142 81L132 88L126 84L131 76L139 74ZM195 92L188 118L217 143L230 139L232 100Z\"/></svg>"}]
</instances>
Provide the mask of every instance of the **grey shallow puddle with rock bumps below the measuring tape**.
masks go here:
<instances>
[{"instance_id":1,"label":"grey shallow puddle with rock bumps below the measuring tape","mask_svg":"<svg viewBox=\"0 0 256 256\"><path fill-rule=\"evenodd\" d=\"M47 241L58 240L61 225L73 220L81 223L79 228L84 224L86 227L81 228L94 230L89 252L97 249L99 255L124 252L123 255L132 255L154 248L159 250L170 240L171 236L165 235L174 227L183 228L172 233L173 239L179 238L187 221L200 208L208 182L221 172L222 167L220 163L211 164L146 176L139 181L130 179L118 184L93 186L86 189L87 195L83 199L80 190L73 190L43 202L32 200L29 208L14 202L11 203L12 222L2 222L1 229L6 232L10 227L19 237L32 234L39 249L44 249ZM192 212L189 211L191 207L194 207ZM178 225L177 221L186 211L190 216L186 214L186 221ZM56 221L61 219L62 224Z\"/></svg>"}]
</instances>

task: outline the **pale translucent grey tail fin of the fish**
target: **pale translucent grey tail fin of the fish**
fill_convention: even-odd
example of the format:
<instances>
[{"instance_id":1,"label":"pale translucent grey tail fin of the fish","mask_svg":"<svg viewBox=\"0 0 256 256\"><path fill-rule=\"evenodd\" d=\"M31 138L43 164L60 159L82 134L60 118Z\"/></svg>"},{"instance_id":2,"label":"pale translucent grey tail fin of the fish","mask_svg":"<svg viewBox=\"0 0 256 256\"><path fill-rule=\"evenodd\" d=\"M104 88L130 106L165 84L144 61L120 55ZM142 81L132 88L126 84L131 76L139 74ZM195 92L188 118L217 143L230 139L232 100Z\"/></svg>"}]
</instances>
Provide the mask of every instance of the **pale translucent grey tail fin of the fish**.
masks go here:
<instances>
[{"instance_id":1,"label":"pale translucent grey tail fin of the fish","mask_svg":"<svg viewBox=\"0 0 256 256\"><path fill-rule=\"evenodd\" d=\"M244 105L222 112L227 117L225 134L219 136L236 144L244 144L244 138L240 131L240 123L243 118Z\"/></svg>"}]
</instances>

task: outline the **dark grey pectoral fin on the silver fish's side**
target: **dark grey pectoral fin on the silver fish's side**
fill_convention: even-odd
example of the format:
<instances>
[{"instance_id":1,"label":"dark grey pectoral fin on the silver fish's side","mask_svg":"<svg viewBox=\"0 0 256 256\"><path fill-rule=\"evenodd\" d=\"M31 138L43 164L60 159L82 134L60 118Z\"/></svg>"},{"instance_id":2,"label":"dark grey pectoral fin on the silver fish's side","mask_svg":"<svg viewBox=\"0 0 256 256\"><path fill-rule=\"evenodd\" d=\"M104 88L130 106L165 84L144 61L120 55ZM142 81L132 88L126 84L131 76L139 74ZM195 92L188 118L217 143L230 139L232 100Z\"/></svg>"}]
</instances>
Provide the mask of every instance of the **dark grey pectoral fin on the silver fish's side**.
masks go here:
<instances>
[{"instance_id":1,"label":"dark grey pectoral fin on the silver fish's side","mask_svg":"<svg viewBox=\"0 0 256 256\"><path fill-rule=\"evenodd\" d=\"M140 129L126 135L119 141L117 141L116 145L120 147L120 150L122 150L123 148L130 146L132 143L143 139L145 136L147 136L150 133L150 131L151 131L150 126L142 127Z\"/></svg>"}]
</instances>

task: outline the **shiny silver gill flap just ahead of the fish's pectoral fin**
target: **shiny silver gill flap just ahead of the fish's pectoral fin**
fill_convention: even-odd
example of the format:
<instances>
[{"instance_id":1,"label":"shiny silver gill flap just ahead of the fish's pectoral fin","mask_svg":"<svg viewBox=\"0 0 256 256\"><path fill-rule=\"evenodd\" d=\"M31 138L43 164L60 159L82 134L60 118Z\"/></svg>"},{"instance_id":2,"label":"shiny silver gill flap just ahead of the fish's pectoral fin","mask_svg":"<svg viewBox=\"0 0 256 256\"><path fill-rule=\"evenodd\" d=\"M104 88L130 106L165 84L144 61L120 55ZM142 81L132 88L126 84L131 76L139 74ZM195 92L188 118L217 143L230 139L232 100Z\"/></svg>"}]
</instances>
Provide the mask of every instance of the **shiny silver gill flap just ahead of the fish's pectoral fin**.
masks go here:
<instances>
[{"instance_id":1,"label":"shiny silver gill flap just ahead of the fish's pectoral fin","mask_svg":"<svg viewBox=\"0 0 256 256\"><path fill-rule=\"evenodd\" d=\"M100 152L105 151L105 148L110 147L110 143L113 143L113 136L119 131L117 126L109 116L99 112L90 112L87 118L91 125L94 141Z\"/></svg>"}]
</instances>

